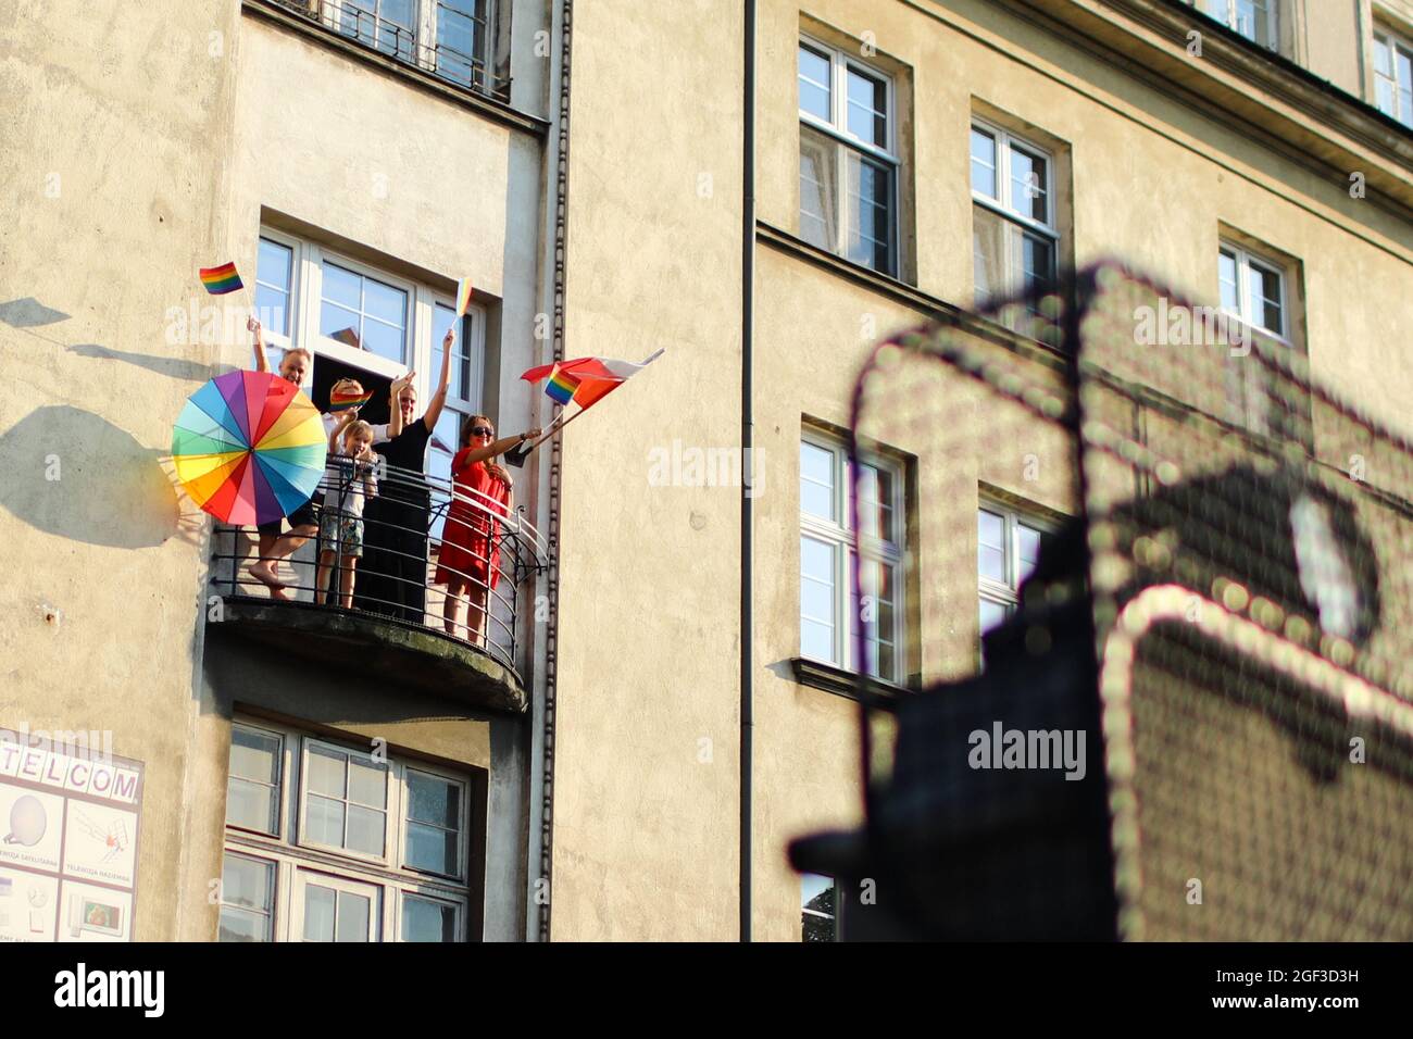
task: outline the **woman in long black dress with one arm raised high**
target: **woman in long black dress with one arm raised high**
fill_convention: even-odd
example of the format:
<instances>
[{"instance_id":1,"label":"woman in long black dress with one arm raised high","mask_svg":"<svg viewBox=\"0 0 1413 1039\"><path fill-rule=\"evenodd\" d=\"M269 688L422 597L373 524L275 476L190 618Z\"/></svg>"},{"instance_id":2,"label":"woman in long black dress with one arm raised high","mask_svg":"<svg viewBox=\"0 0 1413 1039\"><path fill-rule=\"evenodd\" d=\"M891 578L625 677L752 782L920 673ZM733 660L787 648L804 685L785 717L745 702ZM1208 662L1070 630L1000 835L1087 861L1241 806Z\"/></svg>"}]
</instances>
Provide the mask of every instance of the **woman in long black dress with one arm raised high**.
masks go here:
<instances>
[{"instance_id":1,"label":"woman in long black dress with one arm raised high","mask_svg":"<svg viewBox=\"0 0 1413 1039\"><path fill-rule=\"evenodd\" d=\"M442 339L442 370L427 411L417 411L415 372L393 383L389 401L389 438L373 450L387 459L387 476L377 498L363 513L363 565L355 602L359 609L386 614L400 621L422 623L427 608L427 530L431 526L431 492L427 444L447 404L451 382L455 325Z\"/></svg>"}]
</instances>

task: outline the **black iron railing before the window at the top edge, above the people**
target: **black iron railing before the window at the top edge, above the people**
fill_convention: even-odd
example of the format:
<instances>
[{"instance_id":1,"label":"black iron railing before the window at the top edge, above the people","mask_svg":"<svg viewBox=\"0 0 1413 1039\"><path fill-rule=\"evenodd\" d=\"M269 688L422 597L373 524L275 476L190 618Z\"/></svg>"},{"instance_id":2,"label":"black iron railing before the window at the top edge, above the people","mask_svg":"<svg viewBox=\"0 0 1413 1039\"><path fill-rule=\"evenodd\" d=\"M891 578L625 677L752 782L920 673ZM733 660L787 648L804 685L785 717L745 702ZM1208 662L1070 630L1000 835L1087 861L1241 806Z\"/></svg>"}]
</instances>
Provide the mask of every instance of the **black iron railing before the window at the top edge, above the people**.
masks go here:
<instances>
[{"instance_id":1,"label":"black iron railing before the window at the top edge, above the people","mask_svg":"<svg viewBox=\"0 0 1413 1039\"><path fill-rule=\"evenodd\" d=\"M489 0L462 6L438 0L425 6L389 0L266 0L379 54L431 72L439 79L499 100L510 98L510 78L497 76L490 52ZM411 24L386 17L397 10ZM382 11L382 13L380 13Z\"/></svg>"}]
</instances>

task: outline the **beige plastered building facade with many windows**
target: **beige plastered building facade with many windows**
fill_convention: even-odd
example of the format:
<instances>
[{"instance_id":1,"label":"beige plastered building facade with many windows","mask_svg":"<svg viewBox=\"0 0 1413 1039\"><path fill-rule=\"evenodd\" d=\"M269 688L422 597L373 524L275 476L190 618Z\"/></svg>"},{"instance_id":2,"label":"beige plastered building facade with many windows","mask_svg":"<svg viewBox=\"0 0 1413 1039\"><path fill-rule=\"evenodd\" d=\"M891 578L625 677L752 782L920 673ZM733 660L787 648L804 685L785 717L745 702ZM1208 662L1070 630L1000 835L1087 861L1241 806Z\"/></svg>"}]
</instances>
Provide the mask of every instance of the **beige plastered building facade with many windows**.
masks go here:
<instances>
[{"instance_id":1,"label":"beige plastered building facade with many windows","mask_svg":"<svg viewBox=\"0 0 1413 1039\"><path fill-rule=\"evenodd\" d=\"M735 940L743 888L753 939L827 934L786 845L861 817L851 553L907 695L975 670L1027 537L1078 510L1060 431L958 383L931 407L962 447L875 444L873 526L845 519L875 345L988 295L1118 257L1407 433L1407 3L49 4L0 41L0 728L141 763L136 868L95 882L122 937ZM319 407L408 370L424 407L469 277L452 450L472 414L548 424L534 365L666 351L513 471L496 652L438 633L437 589L393 623L230 584L253 532L168 457L250 366L196 281L226 260ZM3 783L0 811L44 793Z\"/></svg>"}]
</instances>

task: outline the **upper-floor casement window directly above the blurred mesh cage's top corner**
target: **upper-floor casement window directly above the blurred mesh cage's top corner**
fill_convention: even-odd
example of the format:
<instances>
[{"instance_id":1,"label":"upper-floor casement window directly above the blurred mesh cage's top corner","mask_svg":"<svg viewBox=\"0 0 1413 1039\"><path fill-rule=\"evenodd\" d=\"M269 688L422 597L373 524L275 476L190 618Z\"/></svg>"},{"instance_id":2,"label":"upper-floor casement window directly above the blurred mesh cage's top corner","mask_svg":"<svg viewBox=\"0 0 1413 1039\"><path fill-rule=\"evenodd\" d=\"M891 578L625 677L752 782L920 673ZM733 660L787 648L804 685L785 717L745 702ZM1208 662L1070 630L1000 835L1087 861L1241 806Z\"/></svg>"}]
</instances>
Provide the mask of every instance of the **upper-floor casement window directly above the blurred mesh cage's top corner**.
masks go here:
<instances>
[{"instance_id":1,"label":"upper-floor casement window directly above the blurred mesh cage's top corner","mask_svg":"<svg viewBox=\"0 0 1413 1039\"><path fill-rule=\"evenodd\" d=\"M1056 163L1046 148L974 120L971 127L972 260L976 300L1054 284Z\"/></svg>"}]
</instances>

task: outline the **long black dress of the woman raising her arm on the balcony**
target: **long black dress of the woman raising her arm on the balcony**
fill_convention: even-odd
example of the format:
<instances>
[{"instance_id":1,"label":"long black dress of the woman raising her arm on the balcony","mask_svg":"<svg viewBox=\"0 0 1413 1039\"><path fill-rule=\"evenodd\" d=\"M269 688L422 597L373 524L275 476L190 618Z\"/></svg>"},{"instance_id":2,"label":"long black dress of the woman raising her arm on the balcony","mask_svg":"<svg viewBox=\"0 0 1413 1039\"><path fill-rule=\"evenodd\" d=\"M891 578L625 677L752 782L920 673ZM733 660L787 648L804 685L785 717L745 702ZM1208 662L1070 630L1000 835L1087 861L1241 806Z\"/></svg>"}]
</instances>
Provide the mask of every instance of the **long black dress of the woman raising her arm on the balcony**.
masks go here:
<instances>
[{"instance_id":1,"label":"long black dress of the woman raising her arm on the balcony","mask_svg":"<svg viewBox=\"0 0 1413 1039\"><path fill-rule=\"evenodd\" d=\"M431 435L424 416L373 447L387 459L387 479L363 510L363 561L353 594L359 609L411 623L421 623L427 609L431 492L422 472Z\"/></svg>"}]
</instances>

